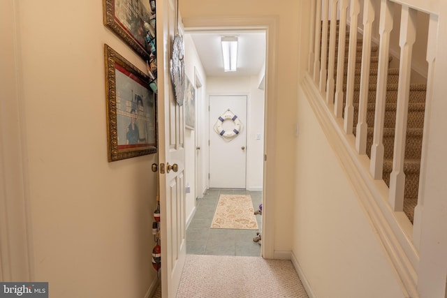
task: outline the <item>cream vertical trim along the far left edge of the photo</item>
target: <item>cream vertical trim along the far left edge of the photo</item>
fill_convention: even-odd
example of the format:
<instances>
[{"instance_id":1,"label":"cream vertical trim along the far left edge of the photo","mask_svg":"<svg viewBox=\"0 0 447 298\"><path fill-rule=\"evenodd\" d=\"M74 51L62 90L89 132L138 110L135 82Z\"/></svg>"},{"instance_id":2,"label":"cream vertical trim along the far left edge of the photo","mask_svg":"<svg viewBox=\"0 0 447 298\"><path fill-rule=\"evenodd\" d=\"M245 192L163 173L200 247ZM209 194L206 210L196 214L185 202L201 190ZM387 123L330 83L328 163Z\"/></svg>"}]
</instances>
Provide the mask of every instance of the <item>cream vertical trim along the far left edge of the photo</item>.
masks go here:
<instances>
[{"instance_id":1,"label":"cream vertical trim along the far left edge of the photo","mask_svg":"<svg viewBox=\"0 0 447 298\"><path fill-rule=\"evenodd\" d=\"M27 168L24 103L20 84L22 59L17 54L16 1L4 1L0 9L3 55L0 57L0 281L34 279L31 211ZM5 26L3 26L5 25ZM20 51L18 51L20 52Z\"/></svg>"}]
</instances>

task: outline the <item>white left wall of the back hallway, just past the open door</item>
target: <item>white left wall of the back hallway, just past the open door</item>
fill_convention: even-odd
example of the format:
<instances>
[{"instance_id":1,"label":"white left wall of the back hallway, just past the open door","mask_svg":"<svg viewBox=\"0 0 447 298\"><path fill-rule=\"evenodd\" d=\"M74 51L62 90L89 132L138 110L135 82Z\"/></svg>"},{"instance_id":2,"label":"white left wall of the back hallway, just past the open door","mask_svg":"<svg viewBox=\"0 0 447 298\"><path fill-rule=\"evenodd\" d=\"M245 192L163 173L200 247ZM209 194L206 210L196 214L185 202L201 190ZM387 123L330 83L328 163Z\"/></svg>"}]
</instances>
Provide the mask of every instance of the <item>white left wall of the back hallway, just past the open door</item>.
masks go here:
<instances>
[{"instance_id":1,"label":"white left wall of the back hallway, just past the open door","mask_svg":"<svg viewBox=\"0 0 447 298\"><path fill-rule=\"evenodd\" d=\"M205 146L203 144L203 138L198 140L198 144L196 146L196 137L198 135L204 135L206 131L205 123L207 123L207 119L203 119L204 111L207 110L207 102L204 100L203 91L206 89L206 81L203 80L205 77L205 72L203 70L203 66L200 62L200 58L198 57L196 47L193 43L193 40L189 34L184 35L184 53L185 53L185 72L186 77L188 77L191 84L196 85L196 77L200 77L202 87L196 88L196 117L198 118L196 122L196 128L194 130L190 130L186 128L185 131L185 181L186 184L189 184L191 188L190 193L186 193L186 221L189 223L192 219L192 216L195 212L196 208L196 198L203 197L203 191L205 191L205 185L203 184L203 177L199 183L199 188L196 189L196 161L198 158L201 159L202 162L207 161L205 156ZM202 142L202 144L200 144ZM200 150L196 150L196 147L200 147ZM207 172L204 172L204 165L201 164L201 172L203 175L207 175ZM205 186L205 187L204 187Z\"/></svg>"}]
</instances>

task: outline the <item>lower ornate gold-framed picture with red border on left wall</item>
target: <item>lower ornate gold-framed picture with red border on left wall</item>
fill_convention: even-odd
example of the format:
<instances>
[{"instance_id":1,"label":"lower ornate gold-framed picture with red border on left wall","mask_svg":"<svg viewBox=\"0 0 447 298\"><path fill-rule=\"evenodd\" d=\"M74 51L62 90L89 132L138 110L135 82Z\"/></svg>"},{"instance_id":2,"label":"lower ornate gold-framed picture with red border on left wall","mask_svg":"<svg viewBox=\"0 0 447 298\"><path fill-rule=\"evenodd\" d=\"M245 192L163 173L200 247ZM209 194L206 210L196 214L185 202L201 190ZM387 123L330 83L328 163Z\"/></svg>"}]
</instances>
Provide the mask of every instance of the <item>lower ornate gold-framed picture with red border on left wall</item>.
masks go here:
<instances>
[{"instance_id":1,"label":"lower ornate gold-framed picture with red border on left wall","mask_svg":"<svg viewBox=\"0 0 447 298\"><path fill-rule=\"evenodd\" d=\"M110 46L104 52L108 161L156 153L156 95L149 77Z\"/></svg>"}]
</instances>

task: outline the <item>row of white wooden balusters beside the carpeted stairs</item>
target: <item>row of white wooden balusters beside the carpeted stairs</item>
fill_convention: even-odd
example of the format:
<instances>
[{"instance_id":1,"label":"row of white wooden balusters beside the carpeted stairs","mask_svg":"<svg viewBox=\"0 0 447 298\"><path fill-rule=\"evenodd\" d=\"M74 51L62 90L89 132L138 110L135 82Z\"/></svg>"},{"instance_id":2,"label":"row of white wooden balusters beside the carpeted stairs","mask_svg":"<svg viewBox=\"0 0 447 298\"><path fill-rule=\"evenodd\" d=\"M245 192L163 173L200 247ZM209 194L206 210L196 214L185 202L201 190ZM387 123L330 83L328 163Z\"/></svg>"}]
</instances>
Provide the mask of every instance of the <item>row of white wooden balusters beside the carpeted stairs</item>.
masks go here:
<instances>
[{"instance_id":1,"label":"row of white wooden balusters beside the carpeted stairs","mask_svg":"<svg viewBox=\"0 0 447 298\"><path fill-rule=\"evenodd\" d=\"M393 152L393 171L390 174L390 192L388 201L394 211L402 211L404 207L404 156L406 147L406 121L408 119L409 90L411 78L411 59L413 43L416 40L417 11L430 12L432 4L423 6L416 0L365 0L360 7L360 0L314 0L312 5L312 24L310 33L312 42L309 45L309 73L318 86L321 96L328 105L333 105L336 118L344 118L344 132L353 133L354 123L354 94L356 64L358 63L358 18L362 10L362 59L360 71L360 96L358 107L358 121L356 126L356 150L358 154L367 151L367 99L369 94L369 65L371 59L373 22L379 22L379 67L377 70L376 106L374 114L374 133L371 146L369 172L374 179L383 178L383 133L385 121L386 92L388 79L388 57L390 54L390 32L393 29L395 3L402 5L400 22L400 66L397 91L397 112L395 124L395 145ZM415 3L418 3L416 5ZM330 8L330 9L329 9ZM349 15L347 11L349 9ZM379 20L374 20L379 11ZM330 15L329 15L330 12ZM333 22L332 22L333 21ZM335 31L339 23L338 41ZM344 93L344 63L346 44L346 24L349 22L349 49L346 69L346 94ZM437 15L432 14L430 32L436 32ZM330 28L330 30L329 30ZM338 50L335 45L338 44ZM329 45L329 48L328 48ZM430 87L430 73L434 64L434 49L436 40L432 38L427 46L427 61L429 62L429 76L427 87ZM338 52L337 52L338 51ZM337 73L335 70L337 57ZM337 78L335 80L335 75ZM427 89L427 96L430 90ZM417 215L415 216L417 217ZM418 220L415 218L415 222Z\"/></svg>"}]
</instances>

